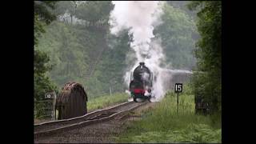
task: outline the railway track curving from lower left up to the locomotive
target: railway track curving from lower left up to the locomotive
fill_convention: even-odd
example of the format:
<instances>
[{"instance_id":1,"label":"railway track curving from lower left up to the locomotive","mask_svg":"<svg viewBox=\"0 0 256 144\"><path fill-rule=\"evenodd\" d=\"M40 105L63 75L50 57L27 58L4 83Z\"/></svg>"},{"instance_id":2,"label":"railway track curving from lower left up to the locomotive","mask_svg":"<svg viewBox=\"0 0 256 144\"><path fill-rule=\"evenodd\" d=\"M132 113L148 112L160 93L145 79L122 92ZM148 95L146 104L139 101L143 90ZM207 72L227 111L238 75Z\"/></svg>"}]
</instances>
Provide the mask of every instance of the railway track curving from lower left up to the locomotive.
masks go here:
<instances>
[{"instance_id":1,"label":"railway track curving from lower left up to the locomotive","mask_svg":"<svg viewBox=\"0 0 256 144\"><path fill-rule=\"evenodd\" d=\"M81 117L35 124L34 137L37 138L49 136L66 130L73 130L82 126L88 126L94 123L106 122L120 116L125 116L130 110L134 110L139 106L145 105L146 103L148 102L124 102L117 106L112 106L103 110L96 110Z\"/></svg>"}]
</instances>

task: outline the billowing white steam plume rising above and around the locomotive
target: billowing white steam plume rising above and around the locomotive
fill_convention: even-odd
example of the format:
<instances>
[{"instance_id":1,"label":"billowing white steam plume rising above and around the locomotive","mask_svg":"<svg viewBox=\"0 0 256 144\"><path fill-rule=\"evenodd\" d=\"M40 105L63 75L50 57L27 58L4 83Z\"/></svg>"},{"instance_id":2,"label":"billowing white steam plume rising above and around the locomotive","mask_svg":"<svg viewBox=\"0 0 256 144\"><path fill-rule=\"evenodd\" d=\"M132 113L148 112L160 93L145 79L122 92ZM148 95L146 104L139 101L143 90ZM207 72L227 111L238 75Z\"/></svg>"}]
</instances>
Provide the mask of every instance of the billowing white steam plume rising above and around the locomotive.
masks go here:
<instances>
[{"instance_id":1,"label":"billowing white steam plume rising above and around the locomotive","mask_svg":"<svg viewBox=\"0 0 256 144\"><path fill-rule=\"evenodd\" d=\"M164 95L162 68L162 47L158 44L159 39L154 38L154 26L161 23L162 2L158 1L112 1L114 10L110 13L110 32L118 34L119 31L129 29L133 42L130 47L136 54L136 62L130 71L126 72L125 82L129 85L130 72L138 66L138 62L145 62L156 78L153 82L154 96L160 100Z\"/></svg>"}]
</instances>

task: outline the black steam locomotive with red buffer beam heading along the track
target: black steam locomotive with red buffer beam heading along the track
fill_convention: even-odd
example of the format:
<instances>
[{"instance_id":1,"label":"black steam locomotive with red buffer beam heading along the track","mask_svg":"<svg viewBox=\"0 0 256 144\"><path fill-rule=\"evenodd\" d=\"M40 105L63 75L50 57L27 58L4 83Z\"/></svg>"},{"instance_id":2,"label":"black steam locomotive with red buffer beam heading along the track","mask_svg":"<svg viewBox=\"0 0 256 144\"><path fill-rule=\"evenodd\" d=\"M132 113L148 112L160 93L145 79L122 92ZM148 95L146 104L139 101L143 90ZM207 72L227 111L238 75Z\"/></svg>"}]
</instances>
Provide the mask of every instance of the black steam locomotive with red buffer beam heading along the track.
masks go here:
<instances>
[{"instance_id":1,"label":"black steam locomotive with red buffer beam heading along the track","mask_svg":"<svg viewBox=\"0 0 256 144\"><path fill-rule=\"evenodd\" d=\"M138 102L140 98L143 101L146 99L150 101L152 97L151 88L153 82L153 73L144 62L140 62L139 66L134 69L134 72L130 75L130 94L134 98L134 102Z\"/></svg>"}]
</instances>

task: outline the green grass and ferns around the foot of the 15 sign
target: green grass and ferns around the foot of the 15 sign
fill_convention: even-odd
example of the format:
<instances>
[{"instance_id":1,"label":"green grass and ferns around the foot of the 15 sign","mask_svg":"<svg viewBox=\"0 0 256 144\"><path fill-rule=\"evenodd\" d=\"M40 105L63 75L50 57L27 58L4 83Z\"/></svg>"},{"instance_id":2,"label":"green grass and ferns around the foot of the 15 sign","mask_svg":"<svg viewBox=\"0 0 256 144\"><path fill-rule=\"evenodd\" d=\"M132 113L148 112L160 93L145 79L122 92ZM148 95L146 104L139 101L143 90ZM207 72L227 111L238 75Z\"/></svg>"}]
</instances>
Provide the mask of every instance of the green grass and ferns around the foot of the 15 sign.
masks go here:
<instances>
[{"instance_id":1,"label":"green grass and ferns around the foot of the 15 sign","mask_svg":"<svg viewBox=\"0 0 256 144\"><path fill-rule=\"evenodd\" d=\"M126 126L116 142L222 142L218 115L194 114L194 95L180 94L177 114L176 94L169 93L142 120Z\"/></svg>"}]
</instances>

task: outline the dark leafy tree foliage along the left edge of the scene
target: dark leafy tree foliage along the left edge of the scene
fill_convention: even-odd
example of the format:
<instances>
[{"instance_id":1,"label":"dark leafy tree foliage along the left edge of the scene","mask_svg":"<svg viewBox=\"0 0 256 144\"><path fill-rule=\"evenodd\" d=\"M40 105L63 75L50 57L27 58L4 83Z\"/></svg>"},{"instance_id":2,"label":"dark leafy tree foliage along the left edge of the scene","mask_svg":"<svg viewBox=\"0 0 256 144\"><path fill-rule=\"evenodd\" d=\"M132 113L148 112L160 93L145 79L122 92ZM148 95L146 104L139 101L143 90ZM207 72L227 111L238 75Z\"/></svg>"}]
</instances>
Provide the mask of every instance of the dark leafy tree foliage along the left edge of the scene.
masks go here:
<instances>
[{"instance_id":1,"label":"dark leafy tree foliage along the left edge of the scene","mask_svg":"<svg viewBox=\"0 0 256 144\"><path fill-rule=\"evenodd\" d=\"M56 90L57 87L50 81L50 78L46 77L46 72L51 70L48 62L50 62L49 56L46 52L42 52L36 49L38 46L38 38L45 32L43 26L50 24L56 17L51 14L49 9L54 9L56 2L34 2L34 102L36 110L36 117L43 114L40 111L40 106L36 103L42 100L46 92Z\"/></svg>"}]
</instances>

